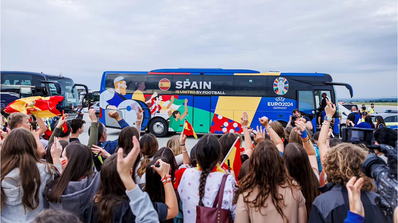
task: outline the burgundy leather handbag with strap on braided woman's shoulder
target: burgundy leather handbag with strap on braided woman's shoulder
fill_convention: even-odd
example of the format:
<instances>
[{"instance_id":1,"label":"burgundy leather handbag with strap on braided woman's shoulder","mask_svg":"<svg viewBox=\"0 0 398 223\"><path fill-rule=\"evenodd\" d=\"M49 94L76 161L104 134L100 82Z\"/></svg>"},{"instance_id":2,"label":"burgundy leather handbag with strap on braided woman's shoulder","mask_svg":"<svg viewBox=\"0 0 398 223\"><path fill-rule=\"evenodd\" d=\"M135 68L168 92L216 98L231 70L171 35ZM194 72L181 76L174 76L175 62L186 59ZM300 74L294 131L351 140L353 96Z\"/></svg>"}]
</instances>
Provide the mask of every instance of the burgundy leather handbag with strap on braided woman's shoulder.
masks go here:
<instances>
[{"instance_id":1,"label":"burgundy leather handbag with strap on braided woman's shoulder","mask_svg":"<svg viewBox=\"0 0 398 223\"><path fill-rule=\"evenodd\" d=\"M228 174L225 174L222 177L221 185L219 188L219 192L217 192L217 196L214 200L213 207L208 208L204 206L196 206L196 223L231 223L232 217L231 212L229 210L221 209L222 204L222 196L224 194L224 186L226 177ZM218 204L218 207L217 207Z\"/></svg>"}]
</instances>

